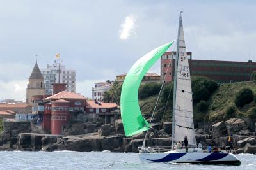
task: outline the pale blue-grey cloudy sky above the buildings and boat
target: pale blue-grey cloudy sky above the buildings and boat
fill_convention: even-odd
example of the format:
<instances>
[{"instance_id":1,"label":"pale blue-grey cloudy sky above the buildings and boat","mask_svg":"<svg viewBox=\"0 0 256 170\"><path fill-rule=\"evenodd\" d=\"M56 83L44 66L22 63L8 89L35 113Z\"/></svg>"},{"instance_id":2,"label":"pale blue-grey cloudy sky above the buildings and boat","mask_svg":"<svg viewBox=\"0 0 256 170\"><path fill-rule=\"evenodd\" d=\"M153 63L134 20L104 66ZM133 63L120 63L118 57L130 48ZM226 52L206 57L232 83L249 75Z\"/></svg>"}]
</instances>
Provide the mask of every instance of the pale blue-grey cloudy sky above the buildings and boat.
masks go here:
<instances>
[{"instance_id":1,"label":"pale blue-grey cloudy sky above the buildings and boat","mask_svg":"<svg viewBox=\"0 0 256 170\"><path fill-rule=\"evenodd\" d=\"M179 10L193 59L256 62L255 9L255 1L0 0L0 99L25 100L35 55L45 69L57 53L90 98L94 83L177 39Z\"/></svg>"}]
</instances>

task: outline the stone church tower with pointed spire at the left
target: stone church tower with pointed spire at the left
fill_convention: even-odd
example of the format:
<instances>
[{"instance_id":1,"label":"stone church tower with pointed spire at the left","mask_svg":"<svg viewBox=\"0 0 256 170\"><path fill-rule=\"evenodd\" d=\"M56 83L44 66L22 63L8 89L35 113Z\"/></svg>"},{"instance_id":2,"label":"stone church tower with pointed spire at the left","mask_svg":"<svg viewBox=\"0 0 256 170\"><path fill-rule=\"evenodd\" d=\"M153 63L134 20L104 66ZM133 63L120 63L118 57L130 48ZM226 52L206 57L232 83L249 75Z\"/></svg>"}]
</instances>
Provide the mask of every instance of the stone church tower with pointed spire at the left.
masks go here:
<instances>
[{"instance_id":1,"label":"stone church tower with pointed spire at the left","mask_svg":"<svg viewBox=\"0 0 256 170\"><path fill-rule=\"evenodd\" d=\"M31 97L34 95L44 95L44 94L45 94L44 77L41 74L41 71L37 65L37 60L36 60L33 71L28 79L26 103L29 104L29 106L32 106Z\"/></svg>"}]
</instances>

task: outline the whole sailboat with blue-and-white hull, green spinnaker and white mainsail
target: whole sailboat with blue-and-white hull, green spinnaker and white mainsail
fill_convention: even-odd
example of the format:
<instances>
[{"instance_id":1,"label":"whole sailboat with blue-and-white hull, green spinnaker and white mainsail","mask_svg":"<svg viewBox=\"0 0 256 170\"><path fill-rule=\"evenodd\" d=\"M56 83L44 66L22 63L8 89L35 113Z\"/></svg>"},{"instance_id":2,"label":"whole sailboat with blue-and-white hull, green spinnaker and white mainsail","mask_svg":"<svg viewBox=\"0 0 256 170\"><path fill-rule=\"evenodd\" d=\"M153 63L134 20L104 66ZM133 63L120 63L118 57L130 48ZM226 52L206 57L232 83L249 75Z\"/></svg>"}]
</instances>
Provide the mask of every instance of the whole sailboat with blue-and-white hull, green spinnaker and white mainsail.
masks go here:
<instances>
[{"instance_id":1,"label":"whole sailboat with blue-and-white hull, green spinnaker and white mainsail","mask_svg":"<svg viewBox=\"0 0 256 170\"><path fill-rule=\"evenodd\" d=\"M121 116L124 125L125 136L133 136L152 128L150 123L141 115L138 104L138 89L143 76L152 67L174 41L155 48L141 57L127 73L121 92ZM235 155L228 152L208 153L202 148L196 148L196 138L193 124L193 103L191 76L188 56L184 40L182 25L182 11L179 15L179 29L177 38L177 53L175 59L173 91L173 114L172 114L172 147L170 150L154 149L154 147L139 147L141 162L177 162L177 163L200 163L200 164L241 164ZM158 101L158 99L157 99ZM175 145L188 140L188 149L178 149ZM147 137L147 133L145 138Z\"/></svg>"}]
</instances>

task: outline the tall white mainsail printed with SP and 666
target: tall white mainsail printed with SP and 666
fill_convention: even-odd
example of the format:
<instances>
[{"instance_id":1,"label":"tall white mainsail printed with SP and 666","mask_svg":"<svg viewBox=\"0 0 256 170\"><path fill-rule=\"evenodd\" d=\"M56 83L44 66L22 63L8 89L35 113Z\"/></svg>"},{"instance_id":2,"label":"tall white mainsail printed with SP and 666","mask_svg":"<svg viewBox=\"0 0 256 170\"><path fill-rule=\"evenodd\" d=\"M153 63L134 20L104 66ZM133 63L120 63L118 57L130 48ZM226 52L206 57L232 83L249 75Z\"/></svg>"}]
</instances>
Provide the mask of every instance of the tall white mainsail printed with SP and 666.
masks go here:
<instances>
[{"instance_id":1,"label":"tall white mainsail printed with SP and 666","mask_svg":"<svg viewBox=\"0 0 256 170\"><path fill-rule=\"evenodd\" d=\"M175 71L175 92L173 94L173 142L184 141L187 136L189 145L196 145L194 123L191 78L189 62L184 40L182 17L180 13L179 31L177 40L177 53ZM173 145L172 142L172 145Z\"/></svg>"}]
</instances>

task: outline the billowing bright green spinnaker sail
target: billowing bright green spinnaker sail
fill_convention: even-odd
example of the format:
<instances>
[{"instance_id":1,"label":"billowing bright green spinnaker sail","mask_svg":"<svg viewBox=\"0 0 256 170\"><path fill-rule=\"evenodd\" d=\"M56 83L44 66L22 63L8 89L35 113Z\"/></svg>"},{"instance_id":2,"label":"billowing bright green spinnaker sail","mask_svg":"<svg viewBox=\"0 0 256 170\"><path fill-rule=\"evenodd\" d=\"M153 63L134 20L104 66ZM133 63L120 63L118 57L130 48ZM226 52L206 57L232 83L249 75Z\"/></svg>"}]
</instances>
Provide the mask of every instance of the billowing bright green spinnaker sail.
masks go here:
<instances>
[{"instance_id":1,"label":"billowing bright green spinnaker sail","mask_svg":"<svg viewBox=\"0 0 256 170\"><path fill-rule=\"evenodd\" d=\"M138 89L144 75L153 66L174 41L155 48L141 57L127 73L121 92L121 117L125 136L132 136L150 128L150 124L143 118L138 103Z\"/></svg>"}]
</instances>

